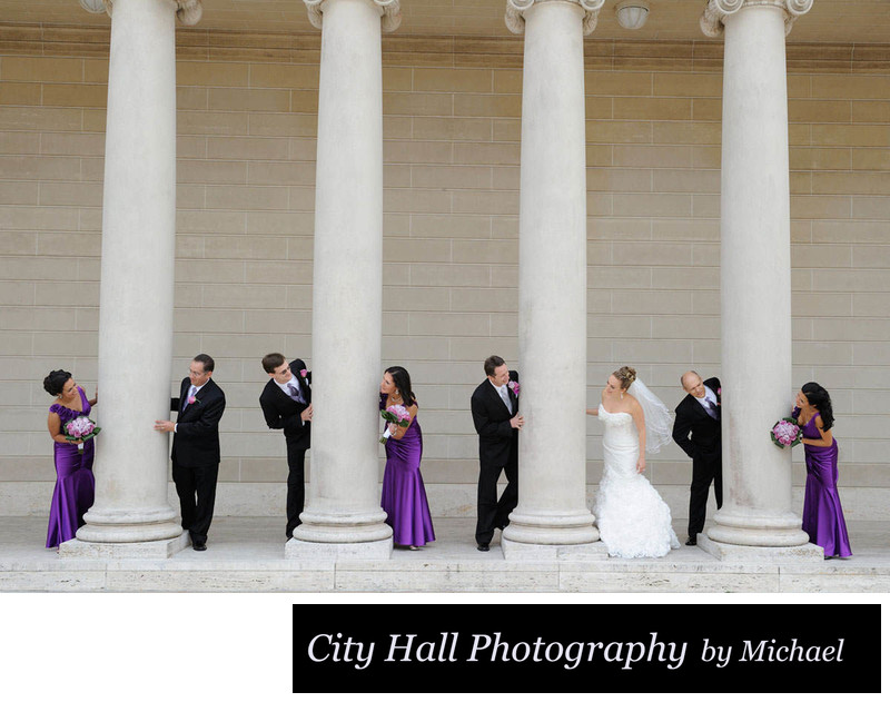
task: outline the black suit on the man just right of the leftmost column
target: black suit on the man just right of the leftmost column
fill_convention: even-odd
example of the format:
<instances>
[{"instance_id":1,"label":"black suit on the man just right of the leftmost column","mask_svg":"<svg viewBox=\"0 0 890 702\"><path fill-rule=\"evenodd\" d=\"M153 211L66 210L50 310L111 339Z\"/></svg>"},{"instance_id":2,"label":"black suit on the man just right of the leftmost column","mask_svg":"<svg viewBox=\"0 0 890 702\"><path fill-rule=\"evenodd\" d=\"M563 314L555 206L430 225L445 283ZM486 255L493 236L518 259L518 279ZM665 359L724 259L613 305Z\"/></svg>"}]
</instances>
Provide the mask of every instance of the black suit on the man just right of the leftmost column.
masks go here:
<instances>
[{"instance_id":1,"label":"black suit on the man just right of the leftmost column","mask_svg":"<svg viewBox=\"0 0 890 702\"><path fill-rule=\"evenodd\" d=\"M189 404L190 388L191 380L182 378L179 397L170 398L170 412L177 413L171 458L182 528L197 545L207 541L214 518L219 475L219 419L226 409L226 395L210 378Z\"/></svg>"}]
</instances>

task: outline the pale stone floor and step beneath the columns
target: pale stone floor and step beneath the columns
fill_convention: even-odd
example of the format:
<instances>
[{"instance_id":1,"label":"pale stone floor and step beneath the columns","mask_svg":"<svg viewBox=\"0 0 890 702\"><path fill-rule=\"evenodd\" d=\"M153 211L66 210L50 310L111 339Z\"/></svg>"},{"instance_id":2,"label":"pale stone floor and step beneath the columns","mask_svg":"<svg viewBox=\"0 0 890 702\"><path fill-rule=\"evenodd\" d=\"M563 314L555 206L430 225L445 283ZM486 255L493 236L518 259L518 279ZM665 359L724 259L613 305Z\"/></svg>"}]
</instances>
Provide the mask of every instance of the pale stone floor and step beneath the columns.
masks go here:
<instances>
[{"instance_id":1,"label":"pale stone floor and step beneath the columns","mask_svg":"<svg viewBox=\"0 0 890 702\"><path fill-rule=\"evenodd\" d=\"M851 522L847 560L720 561L684 546L663 558L505 561L497 536L479 553L473 521L439 518L437 541L388 561L285 558L280 520L219 517L208 550L165 560L60 558L42 547L46 520L0 517L0 591L6 592L313 592L313 593L888 593L890 522ZM678 534L685 533L675 521Z\"/></svg>"}]
</instances>

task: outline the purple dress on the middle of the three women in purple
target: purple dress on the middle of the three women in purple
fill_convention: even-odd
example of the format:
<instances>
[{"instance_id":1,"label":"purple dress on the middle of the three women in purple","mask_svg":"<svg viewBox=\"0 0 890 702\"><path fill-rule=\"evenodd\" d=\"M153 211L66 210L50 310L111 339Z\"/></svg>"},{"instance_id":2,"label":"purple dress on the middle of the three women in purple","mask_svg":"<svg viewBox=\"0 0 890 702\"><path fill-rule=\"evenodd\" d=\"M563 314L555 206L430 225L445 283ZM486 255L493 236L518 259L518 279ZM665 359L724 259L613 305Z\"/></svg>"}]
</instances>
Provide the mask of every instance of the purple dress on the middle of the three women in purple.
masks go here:
<instances>
[{"instance_id":1,"label":"purple dress on the middle of the three women in purple","mask_svg":"<svg viewBox=\"0 0 890 702\"><path fill-rule=\"evenodd\" d=\"M385 406L384 396L380 409ZM386 523L393 527L393 541L403 546L423 546L436 540L421 476L423 452L424 439L416 417L405 436L386 442L380 507L386 512Z\"/></svg>"}]
</instances>

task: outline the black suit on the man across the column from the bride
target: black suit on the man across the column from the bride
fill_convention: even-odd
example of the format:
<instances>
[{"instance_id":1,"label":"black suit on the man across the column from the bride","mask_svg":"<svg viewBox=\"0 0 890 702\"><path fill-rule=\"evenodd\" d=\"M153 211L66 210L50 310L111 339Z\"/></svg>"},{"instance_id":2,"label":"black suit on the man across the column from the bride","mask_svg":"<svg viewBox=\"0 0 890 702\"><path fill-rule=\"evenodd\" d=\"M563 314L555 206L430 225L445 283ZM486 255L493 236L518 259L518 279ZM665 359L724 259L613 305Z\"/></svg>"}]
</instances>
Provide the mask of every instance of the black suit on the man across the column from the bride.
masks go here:
<instances>
[{"instance_id":1,"label":"black suit on the man across the column from the bride","mask_svg":"<svg viewBox=\"0 0 890 702\"><path fill-rule=\"evenodd\" d=\"M515 370L511 380L518 380ZM494 385L485 378L473 392L469 407L473 424L479 435L479 485L477 495L476 543L488 544L495 527L510 524L510 513L518 502L518 446L520 431L510 425L520 412L520 398L512 389L507 394L513 405L508 411ZM497 478L501 469L507 476L507 486L497 500Z\"/></svg>"}]
</instances>

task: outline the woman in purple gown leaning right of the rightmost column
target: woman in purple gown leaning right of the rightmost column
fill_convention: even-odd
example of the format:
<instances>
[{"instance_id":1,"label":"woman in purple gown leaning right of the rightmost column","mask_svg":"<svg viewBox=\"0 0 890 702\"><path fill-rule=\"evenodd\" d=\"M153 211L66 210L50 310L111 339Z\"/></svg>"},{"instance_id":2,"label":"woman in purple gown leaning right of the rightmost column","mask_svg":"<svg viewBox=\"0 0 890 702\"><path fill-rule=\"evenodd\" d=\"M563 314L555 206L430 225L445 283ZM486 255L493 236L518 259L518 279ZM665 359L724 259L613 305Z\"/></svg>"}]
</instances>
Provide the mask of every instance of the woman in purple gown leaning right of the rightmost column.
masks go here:
<instances>
[{"instance_id":1,"label":"woman in purple gown leaning right of the rightmost column","mask_svg":"<svg viewBox=\"0 0 890 702\"><path fill-rule=\"evenodd\" d=\"M818 383L807 383L800 388L795 404L792 416L803 427L807 459L803 531L811 543L822 546L825 558L846 558L853 552L838 495L838 442L831 436L834 425L831 398Z\"/></svg>"}]
</instances>

